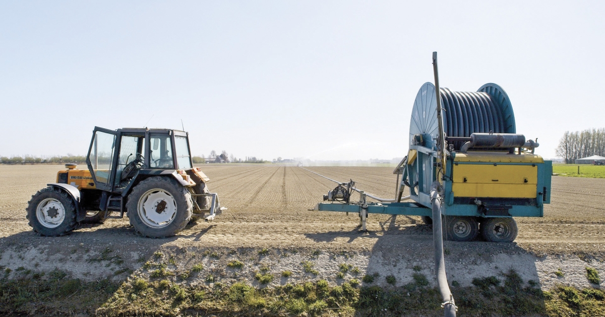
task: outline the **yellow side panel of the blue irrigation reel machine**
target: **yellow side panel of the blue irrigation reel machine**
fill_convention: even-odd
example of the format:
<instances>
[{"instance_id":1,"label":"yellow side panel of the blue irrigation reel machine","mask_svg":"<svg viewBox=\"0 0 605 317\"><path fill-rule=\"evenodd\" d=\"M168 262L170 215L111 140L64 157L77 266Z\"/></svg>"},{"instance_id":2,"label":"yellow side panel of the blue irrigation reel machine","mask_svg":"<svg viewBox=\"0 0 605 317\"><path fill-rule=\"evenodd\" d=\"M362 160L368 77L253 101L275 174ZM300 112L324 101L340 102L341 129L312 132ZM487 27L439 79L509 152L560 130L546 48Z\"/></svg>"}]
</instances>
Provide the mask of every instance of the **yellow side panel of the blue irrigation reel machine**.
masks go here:
<instances>
[{"instance_id":1,"label":"yellow side panel of the blue irrigation reel machine","mask_svg":"<svg viewBox=\"0 0 605 317\"><path fill-rule=\"evenodd\" d=\"M541 156L530 153L456 153L452 166L452 191L456 197L536 198L538 167L528 164L542 162Z\"/></svg>"}]
</instances>

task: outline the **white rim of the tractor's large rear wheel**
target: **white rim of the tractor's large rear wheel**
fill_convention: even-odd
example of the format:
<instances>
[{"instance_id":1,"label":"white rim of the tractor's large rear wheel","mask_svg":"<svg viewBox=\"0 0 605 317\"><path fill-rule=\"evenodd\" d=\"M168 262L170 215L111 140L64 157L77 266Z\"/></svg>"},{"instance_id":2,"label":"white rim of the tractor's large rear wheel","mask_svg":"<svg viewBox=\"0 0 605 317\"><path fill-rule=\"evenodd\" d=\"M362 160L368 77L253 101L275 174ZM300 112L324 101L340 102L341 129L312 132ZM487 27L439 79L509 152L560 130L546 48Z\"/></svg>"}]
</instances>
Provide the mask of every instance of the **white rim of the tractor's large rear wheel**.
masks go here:
<instances>
[{"instance_id":1,"label":"white rim of the tractor's large rear wheel","mask_svg":"<svg viewBox=\"0 0 605 317\"><path fill-rule=\"evenodd\" d=\"M139 218L151 228L163 228L174 220L177 214L177 202L168 191L160 188L148 190L137 205Z\"/></svg>"}]
</instances>

